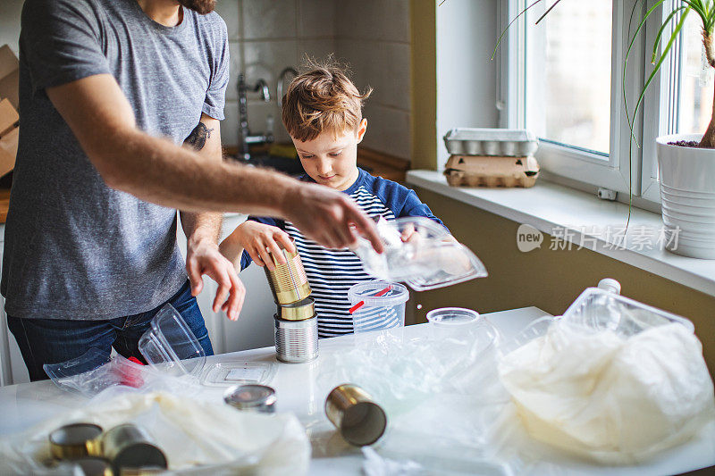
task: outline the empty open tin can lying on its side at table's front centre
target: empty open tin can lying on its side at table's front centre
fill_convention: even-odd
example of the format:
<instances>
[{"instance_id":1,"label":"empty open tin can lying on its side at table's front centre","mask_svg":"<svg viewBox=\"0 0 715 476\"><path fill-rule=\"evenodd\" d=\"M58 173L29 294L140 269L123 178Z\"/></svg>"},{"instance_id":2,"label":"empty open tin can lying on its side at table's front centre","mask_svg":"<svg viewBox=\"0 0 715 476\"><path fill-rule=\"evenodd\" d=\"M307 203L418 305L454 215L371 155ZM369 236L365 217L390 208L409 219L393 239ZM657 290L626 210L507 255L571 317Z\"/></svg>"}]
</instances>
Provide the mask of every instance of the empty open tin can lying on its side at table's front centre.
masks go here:
<instances>
[{"instance_id":1,"label":"empty open tin can lying on its side at table's front centre","mask_svg":"<svg viewBox=\"0 0 715 476\"><path fill-rule=\"evenodd\" d=\"M372 445L387 428L387 415L373 397L350 383L333 388L325 398L325 414L342 438L357 447Z\"/></svg>"}]
</instances>

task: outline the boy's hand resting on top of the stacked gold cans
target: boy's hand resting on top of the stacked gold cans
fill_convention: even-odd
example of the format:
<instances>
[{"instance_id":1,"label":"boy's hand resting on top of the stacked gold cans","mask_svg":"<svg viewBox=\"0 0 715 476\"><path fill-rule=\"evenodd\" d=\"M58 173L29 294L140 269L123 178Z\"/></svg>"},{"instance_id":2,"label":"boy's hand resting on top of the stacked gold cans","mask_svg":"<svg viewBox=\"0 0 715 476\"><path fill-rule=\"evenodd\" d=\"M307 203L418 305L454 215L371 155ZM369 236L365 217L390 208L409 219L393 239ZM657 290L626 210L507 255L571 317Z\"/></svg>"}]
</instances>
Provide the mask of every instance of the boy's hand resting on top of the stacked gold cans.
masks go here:
<instances>
[{"instance_id":1,"label":"boy's hand resting on top of the stacked gold cans","mask_svg":"<svg viewBox=\"0 0 715 476\"><path fill-rule=\"evenodd\" d=\"M296 251L288 233L278 227L248 220L241 223L236 231L240 245L248 252L254 263L258 266L266 266L271 271L275 269L275 264L269 253L276 257L278 263L286 263L280 245L290 253Z\"/></svg>"}]
</instances>

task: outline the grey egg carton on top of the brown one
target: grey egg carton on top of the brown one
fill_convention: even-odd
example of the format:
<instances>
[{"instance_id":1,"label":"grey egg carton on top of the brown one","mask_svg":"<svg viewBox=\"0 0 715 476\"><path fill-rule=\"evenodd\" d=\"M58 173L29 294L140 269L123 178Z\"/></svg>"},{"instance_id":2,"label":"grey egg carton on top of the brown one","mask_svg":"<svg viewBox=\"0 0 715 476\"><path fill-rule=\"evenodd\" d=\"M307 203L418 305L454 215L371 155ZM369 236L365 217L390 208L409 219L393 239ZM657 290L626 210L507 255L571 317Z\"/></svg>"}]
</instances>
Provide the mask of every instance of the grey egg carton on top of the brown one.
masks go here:
<instances>
[{"instance_id":1,"label":"grey egg carton on top of the brown one","mask_svg":"<svg viewBox=\"0 0 715 476\"><path fill-rule=\"evenodd\" d=\"M539 141L526 129L456 128L444 136L444 145L453 155L527 157L536 152Z\"/></svg>"}]
</instances>

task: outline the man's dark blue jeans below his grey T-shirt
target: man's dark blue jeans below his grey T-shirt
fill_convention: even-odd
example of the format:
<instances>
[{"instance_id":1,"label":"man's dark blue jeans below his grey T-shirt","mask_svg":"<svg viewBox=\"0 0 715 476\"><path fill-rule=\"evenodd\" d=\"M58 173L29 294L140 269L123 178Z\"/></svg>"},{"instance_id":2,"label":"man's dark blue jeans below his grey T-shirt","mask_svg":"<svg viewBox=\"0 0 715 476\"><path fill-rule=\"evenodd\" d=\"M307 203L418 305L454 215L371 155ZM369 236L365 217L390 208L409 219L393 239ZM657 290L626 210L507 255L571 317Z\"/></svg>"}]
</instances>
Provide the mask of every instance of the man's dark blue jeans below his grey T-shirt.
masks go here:
<instances>
[{"instance_id":1,"label":"man's dark blue jeans below his grey T-shirt","mask_svg":"<svg viewBox=\"0 0 715 476\"><path fill-rule=\"evenodd\" d=\"M179 292L167 302L181 313L206 355L214 355L204 317L198 309L196 297L191 296L189 281L187 280ZM83 355L91 347L101 351L103 362L109 358L112 347L127 358L137 357L141 362L145 362L139 353L139 338L149 329L151 320L163 305L147 313L107 321L64 321L7 316L7 324L20 347L22 359L28 366L29 380L47 380L42 369L43 364L68 361Z\"/></svg>"}]
</instances>

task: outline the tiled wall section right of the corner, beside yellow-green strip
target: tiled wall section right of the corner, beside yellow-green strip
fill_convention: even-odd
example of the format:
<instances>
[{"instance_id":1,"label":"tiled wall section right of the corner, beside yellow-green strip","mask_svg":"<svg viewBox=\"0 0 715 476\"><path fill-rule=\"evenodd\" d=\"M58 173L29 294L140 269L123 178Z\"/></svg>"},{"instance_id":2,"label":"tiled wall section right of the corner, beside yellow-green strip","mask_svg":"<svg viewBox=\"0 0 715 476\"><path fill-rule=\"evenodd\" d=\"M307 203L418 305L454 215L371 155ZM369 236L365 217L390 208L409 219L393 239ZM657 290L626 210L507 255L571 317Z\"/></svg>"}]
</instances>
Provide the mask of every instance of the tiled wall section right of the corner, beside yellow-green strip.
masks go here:
<instances>
[{"instance_id":1,"label":"tiled wall section right of the corner, beside yellow-green strip","mask_svg":"<svg viewBox=\"0 0 715 476\"><path fill-rule=\"evenodd\" d=\"M374 88L363 146L405 159L412 145L409 8L408 0L340 0L335 11L338 58L349 63L358 89Z\"/></svg>"}]
</instances>

